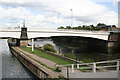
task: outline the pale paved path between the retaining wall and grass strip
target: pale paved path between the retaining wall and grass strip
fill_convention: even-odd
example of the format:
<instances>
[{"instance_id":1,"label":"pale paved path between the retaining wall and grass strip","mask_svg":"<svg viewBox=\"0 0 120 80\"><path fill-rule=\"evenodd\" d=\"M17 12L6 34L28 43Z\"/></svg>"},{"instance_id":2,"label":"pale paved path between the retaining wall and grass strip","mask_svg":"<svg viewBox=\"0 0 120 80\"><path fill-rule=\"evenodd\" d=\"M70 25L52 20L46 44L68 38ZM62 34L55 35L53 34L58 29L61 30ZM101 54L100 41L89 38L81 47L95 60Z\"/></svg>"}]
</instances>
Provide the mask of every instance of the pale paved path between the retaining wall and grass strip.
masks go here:
<instances>
[{"instance_id":1,"label":"pale paved path between the retaining wall and grass strip","mask_svg":"<svg viewBox=\"0 0 120 80\"><path fill-rule=\"evenodd\" d=\"M53 61L51 61L51 60L47 60L47 59L45 59L45 58L41 58L41 57L39 57L39 56L37 56L37 55L35 55L35 54L31 54L31 53L29 53L29 52L26 52L26 51L20 49L19 47L15 47L15 48L16 48L17 50L25 53L26 55L30 56L30 57L33 58L34 60L40 61L41 63L46 64L48 67L55 68L55 65L56 65L55 62L53 62Z\"/></svg>"}]
</instances>

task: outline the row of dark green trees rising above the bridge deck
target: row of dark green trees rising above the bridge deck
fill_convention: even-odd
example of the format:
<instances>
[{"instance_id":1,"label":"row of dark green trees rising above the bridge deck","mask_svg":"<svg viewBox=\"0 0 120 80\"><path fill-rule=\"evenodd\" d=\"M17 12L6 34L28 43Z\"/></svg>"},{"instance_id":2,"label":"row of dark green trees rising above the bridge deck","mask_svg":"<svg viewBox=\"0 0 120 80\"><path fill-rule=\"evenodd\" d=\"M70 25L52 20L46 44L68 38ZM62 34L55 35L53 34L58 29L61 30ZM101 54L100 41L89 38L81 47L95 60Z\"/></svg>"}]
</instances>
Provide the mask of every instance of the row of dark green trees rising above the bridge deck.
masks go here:
<instances>
[{"instance_id":1,"label":"row of dark green trees rising above the bridge deck","mask_svg":"<svg viewBox=\"0 0 120 80\"><path fill-rule=\"evenodd\" d=\"M78 27L71 27L71 26L66 26L66 27L63 27L63 26L60 26L58 29L75 29L75 30L102 30L104 28L109 28L109 27L114 27L116 28L115 25L106 25L104 23L98 23L96 26L94 25L83 25L83 26L78 26Z\"/></svg>"}]
</instances>

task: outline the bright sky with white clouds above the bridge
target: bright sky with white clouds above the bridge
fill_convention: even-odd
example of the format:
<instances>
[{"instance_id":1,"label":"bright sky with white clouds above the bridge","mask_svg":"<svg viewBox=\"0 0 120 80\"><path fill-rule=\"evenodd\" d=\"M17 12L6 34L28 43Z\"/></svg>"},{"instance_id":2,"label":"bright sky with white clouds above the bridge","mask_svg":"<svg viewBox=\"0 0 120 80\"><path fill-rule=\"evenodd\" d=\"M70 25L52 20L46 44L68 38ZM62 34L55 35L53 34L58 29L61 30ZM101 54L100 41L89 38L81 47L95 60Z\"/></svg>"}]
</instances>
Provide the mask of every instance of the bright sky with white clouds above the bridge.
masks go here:
<instances>
[{"instance_id":1,"label":"bright sky with white clouds above the bridge","mask_svg":"<svg viewBox=\"0 0 120 80\"><path fill-rule=\"evenodd\" d=\"M105 23L118 26L118 0L0 0L0 27L57 28ZM70 11L72 9L72 11ZM59 17L59 18L58 18ZM59 22L59 24L58 24Z\"/></svg>"}]
</instances>

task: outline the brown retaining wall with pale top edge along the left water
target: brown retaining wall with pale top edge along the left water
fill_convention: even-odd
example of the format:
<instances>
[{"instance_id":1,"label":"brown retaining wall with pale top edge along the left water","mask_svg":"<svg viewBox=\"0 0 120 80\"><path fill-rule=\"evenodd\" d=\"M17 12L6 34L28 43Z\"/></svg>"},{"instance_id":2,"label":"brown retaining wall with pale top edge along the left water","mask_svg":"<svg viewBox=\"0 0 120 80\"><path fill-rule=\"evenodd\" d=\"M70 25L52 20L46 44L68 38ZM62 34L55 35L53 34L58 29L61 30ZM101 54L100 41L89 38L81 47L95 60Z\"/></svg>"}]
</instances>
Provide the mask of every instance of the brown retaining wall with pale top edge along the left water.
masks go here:
<instances>
[{"instance_id":1,"label":"brown retaining wall with pale top edge along the left water","mask_svg":"<svg viewBox=\"0 0 120 80\"><path fill-rule=\"evenodd\" d=\"M40 65L36 61L32 60L25 54L17 51L14 47L10 47L13 55L15 55L21 63L26 66L32 73L34 73L40 79L58 78L58 75L52 70Z\"/></svg>"}]
</instances>

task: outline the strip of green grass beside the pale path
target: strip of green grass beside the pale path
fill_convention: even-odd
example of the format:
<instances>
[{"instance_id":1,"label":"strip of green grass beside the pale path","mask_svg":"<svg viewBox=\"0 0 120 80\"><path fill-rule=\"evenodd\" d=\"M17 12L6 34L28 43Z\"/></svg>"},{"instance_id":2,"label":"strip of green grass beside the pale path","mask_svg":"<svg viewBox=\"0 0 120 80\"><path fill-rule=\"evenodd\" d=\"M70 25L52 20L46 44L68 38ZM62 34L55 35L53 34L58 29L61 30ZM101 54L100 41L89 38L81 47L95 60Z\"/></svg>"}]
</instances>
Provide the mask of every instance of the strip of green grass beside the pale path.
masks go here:
<instances>
[{"instance_id":1,"label":"strip of green grass beside the pale path","mask_svg":"<svg viewBox=\"0 0 120 80\"><path fill-rule=\"evenodd\" d=\"M57 64L72 64L73 63L73 62L66 61L64 59L52 56L50 54L47 54L47 53L42 52L42 51L37 50L37 49L34 49L34 51L31 51L30 47L20 47L20 48L23 49L23 50L25 50L25 51L27 51L27 52L29 52L29 53L36 54L39 57L51 60L51 61L53 61L53 62L55 62Z\"/></svg>"}]
</instances>

